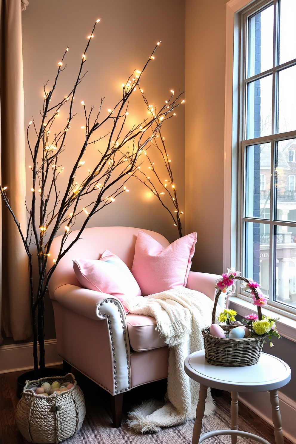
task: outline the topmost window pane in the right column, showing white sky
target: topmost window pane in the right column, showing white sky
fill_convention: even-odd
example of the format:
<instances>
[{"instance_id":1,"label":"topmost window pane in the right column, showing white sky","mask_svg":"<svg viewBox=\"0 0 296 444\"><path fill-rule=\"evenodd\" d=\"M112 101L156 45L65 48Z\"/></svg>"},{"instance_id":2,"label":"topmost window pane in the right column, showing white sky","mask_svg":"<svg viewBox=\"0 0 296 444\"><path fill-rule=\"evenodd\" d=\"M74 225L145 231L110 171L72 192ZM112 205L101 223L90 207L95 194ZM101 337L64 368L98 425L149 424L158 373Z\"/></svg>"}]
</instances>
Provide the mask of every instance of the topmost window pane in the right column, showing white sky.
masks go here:
<instances>
[{"instance_id":1,"label":"topmost window pane in the right column, showing white sky","mask_svg":"<svg viewBox=\"0 0 296 444\"><path fill-rule=\"evenodd\" d=\"M296 1L280 0L280 63L296 59Z\"/></svg>"}]
</instances>

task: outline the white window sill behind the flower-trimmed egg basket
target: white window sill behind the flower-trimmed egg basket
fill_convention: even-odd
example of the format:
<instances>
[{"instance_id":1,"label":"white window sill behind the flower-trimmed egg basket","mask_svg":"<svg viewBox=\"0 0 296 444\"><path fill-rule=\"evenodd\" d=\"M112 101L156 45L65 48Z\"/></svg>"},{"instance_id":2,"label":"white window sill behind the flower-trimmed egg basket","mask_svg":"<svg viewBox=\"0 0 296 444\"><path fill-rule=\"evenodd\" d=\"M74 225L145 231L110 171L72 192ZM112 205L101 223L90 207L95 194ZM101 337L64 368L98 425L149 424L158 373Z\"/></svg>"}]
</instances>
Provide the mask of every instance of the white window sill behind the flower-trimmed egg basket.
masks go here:
<instances>
[{"instance_id":1,"label":"white window sill behind the flower-trimmed egg basket","mask_svg":"<svg viewBox=\"0 0 296 444\"><path fill-rule=\"evenodd\" d=\"M243 299L231 296L229 298L230 308L235 310L237 314L241 316L246 316L247 314L254 313L254 307L251 302L244 301ZM272 310L268 310L266 308L262 308L262 314L271 317L279 317L280 320L276 322L276 327L281 336L290 339L290 341L296 342L296 320L291 319L288 316L284 316L282 314L275 313Z\"/></svg>"}]
</instances>

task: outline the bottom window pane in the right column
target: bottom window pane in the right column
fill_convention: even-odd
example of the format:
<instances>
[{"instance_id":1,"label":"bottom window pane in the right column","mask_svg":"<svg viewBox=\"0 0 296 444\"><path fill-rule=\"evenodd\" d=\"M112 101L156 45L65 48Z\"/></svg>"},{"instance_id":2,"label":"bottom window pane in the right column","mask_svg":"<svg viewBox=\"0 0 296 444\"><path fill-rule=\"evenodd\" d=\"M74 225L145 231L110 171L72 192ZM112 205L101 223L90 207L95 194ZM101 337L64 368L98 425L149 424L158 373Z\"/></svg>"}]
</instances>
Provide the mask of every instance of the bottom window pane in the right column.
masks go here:
<instances>
[{"instance_id":1,"label":"bottom window pane in the right column","mask_svg":"<svg viewBox=\"0 0 296 444\"><path fill-rule=\"evenodd\" d=\"M296 228L276 226L276 301L296 307Z\"/></svg>"}]
</instances>

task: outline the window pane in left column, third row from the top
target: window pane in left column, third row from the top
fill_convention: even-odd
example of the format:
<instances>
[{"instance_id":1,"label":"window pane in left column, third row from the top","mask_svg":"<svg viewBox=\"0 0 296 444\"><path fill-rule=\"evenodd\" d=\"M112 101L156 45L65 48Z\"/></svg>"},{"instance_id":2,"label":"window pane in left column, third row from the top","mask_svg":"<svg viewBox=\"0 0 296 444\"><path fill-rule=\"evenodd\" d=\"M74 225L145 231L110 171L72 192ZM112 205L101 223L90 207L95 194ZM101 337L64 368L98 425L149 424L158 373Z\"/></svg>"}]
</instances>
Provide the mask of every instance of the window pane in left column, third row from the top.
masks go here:
<instances>
[{"instance_id":1,"label":"window pane in left column, third row from the top","mask_svg":"<svg viewBox=\"0 0 296 444\"><path fill-rule=\"evenodd\" d=\"M270 217L271 143L246 147L245 216Z\"/></svg>"}]
</instances>

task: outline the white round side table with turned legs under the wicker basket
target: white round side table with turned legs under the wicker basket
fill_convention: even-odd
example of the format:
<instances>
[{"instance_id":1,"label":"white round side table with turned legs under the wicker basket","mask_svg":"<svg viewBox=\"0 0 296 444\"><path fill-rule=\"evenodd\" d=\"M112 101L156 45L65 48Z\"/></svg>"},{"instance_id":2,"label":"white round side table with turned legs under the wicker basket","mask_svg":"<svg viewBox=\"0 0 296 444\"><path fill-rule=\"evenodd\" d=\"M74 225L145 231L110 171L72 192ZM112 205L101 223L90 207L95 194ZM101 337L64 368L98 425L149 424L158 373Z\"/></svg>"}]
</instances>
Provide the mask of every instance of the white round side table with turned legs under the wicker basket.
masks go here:
<instances>
[{"instance_id":1,"label":"white round side table with turned legs under the wicker basket","mask_svg":"<svg viewBox=\"0 0 296 444\"><path fill-rule=\"evenodd\" d=\"M237 436L253 438L261 444L270 444L260 436L237 430L238 392L267 391L270 393L276 444L284 444L277 397L277 389L288 384L291 379L291 369L284 361L267 353L261 353L258 364L247 367L220 367L208 364L205 360L205 350L200 350L185 359L185 372L200 384L192 444L199 444L207 438L220 435L231 435L232 444L236 444ZM208 387L231 392L231 428L215 430L201 436L201 422L205 414L205 399Z\"/></svg>"}]
</instances>

